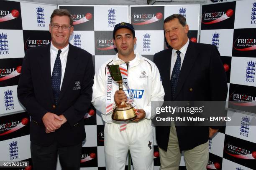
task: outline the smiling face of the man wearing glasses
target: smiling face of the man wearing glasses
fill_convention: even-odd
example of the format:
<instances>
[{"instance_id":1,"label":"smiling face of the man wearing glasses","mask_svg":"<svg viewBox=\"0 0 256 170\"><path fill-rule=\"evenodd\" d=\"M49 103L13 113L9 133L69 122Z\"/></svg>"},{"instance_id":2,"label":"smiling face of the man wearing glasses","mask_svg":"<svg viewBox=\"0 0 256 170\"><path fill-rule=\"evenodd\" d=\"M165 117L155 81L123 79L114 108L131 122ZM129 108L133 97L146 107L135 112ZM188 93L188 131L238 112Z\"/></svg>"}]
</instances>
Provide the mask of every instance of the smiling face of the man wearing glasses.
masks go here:
<instances>
[{"instance_id":1,"label":"smiling face of the man wearing glasses","mask_svg":"<svg viewBox=\"0 0 256 170\"><path fill-rule=\"evenodd\" d=\"M71 27L68 30L63 30L61 27L55 30L51 25L68 26ZM70 25L70 19L68 16L54 16L51 24L49 24L51 33L51 43L54 47L62 49L69 43L69 36L73 33L74 27Z\"/></svg>"}]
</instances>

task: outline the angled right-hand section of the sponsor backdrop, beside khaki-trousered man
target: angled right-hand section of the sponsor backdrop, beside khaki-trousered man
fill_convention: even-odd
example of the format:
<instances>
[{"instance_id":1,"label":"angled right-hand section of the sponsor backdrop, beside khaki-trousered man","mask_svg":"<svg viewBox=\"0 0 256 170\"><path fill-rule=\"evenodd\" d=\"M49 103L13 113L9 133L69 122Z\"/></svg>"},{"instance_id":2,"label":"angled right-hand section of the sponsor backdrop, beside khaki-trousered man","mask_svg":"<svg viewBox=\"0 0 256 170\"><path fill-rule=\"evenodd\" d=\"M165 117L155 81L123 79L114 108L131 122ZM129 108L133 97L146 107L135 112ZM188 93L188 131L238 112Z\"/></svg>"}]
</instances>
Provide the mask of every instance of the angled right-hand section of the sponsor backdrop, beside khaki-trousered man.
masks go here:
<instances>
[{"instance_id":1,"label":"angled right-hand section of the sponsor backdrop, beside khaki-trousered man","mask_svg":"<svg viewBox=\"0 0 256 170\"><path fill-rule=\"evenodd\" d=\"M256 110L256 1L202 5L201 17L200 42L218 48L228 79L228 107L240 110L228 110L232 121L209 140L207 170L254 170L256 117L243 111Z\"/></svg>"}]
</instances>

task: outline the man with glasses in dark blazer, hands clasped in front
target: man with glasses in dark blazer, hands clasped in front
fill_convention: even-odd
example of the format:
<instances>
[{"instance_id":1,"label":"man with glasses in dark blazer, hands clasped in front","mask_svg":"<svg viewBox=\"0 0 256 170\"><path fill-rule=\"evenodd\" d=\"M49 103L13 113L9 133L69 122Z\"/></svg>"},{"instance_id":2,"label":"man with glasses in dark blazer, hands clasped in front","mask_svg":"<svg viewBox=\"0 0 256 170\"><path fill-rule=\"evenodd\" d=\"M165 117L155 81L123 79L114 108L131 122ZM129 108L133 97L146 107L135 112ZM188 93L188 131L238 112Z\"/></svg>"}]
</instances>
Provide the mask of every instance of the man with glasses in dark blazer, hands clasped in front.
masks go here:
<instances>
[{"instance_id":1,"label":"man with glasses in dark blazer, hands clasped in front","mask_svg":"<svg viewBox=\"0 0 256 170\"><path fill-rule=\"evenodd\" d=\"M54 10L51 43L27 50L18 98L31 116L31 158L36 170L79 170L84 114L92 100L92 55L69 44L69 11Z\"/></svg>"}]
</instances>

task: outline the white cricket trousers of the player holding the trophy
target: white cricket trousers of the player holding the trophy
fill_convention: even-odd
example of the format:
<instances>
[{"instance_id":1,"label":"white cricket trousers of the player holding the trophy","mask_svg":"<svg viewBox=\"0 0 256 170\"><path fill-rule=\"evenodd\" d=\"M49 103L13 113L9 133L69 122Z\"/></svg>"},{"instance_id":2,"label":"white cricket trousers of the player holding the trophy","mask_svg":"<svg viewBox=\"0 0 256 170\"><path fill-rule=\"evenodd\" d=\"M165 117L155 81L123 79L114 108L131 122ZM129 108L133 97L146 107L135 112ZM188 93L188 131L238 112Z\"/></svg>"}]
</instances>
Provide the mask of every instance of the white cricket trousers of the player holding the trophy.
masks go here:
<instances>
[{"instance_id":1,"label":"white cricket trousers of the player holding the trophy","mask_svg":"<svg viewBox=\"0 0 256 170\"><path fill-rule=\"evenodd\" d=\"M154 169L153 126L151 120L129 122L120 132L120 124L105 123L104 148L106 170L124 170L130 150L134 170Z\"/></svg>"}]
</instances>

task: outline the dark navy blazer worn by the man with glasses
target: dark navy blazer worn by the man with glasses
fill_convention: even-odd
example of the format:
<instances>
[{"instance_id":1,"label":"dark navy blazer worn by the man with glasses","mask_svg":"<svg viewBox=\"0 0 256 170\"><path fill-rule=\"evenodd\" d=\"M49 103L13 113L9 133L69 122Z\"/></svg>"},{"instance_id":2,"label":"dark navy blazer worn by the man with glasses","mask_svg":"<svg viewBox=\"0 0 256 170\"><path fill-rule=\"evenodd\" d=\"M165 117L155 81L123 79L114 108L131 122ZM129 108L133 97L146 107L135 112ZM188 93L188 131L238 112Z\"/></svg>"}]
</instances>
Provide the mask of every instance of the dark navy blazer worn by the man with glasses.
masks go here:
<instances>
[{"instance_id":1,"label":"dark navy blazer worn by the man with glasses","mask_svg":"<svg viewBox=\"0 0 256 170\"><path fill-rule=\"evenodd\" d=\"M92 100L92 55L69 44L64 79L55 106L51 85L50 46L49 43L27 50L18 82L18 99L31 116L32 143L48 146L57 140L63 146L77 145L85 138L84 114ZM76 82L79 84L78 88ZM55 132L47 134L42 121L46 112L63 114L67 122Z\"/></svg>"}]
</instances>

